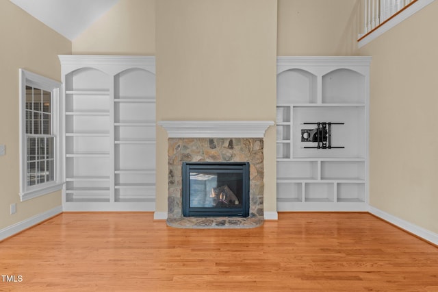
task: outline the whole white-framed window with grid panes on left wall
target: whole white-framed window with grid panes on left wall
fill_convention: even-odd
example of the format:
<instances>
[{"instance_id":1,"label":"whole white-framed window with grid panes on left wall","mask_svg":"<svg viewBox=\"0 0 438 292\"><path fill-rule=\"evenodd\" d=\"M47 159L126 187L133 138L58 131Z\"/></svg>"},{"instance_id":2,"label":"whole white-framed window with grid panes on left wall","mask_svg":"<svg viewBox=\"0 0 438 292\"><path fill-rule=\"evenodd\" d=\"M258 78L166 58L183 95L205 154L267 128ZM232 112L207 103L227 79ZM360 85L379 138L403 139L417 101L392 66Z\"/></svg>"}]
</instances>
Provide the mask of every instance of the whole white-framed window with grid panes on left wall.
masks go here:
<instances>
[{"instance_id":1,"label":"whole white-framed window with grid panes on left wall","mask_svg":"<svg viewBox=\"0 0 438 292\"><path fill-rule=\"evenodd\" d=\"M60 82L20 69L21 201L62 188Z\"/></svg>"}]
</instances>

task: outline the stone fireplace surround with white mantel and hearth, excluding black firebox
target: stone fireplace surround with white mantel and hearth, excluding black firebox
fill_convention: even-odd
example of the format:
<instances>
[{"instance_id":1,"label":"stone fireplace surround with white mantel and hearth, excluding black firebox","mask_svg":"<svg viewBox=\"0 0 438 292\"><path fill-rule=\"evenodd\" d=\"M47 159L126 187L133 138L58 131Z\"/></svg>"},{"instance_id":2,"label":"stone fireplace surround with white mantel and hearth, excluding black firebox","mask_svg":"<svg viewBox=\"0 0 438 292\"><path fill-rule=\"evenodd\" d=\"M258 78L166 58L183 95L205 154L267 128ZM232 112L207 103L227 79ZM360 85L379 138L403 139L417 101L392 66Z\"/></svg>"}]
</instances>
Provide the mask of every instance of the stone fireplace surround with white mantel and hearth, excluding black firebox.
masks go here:
<instances>
[{"instance_id":1,"label":"stone fireplace surround with white mantel and hearth, excluding black firebox","mask_svg":"<svg viewBox=\"0 0 438 292\"><path fill-rule=\"evenodd\" d=\"M178 228L253 228L263 224L263 135L272 121L160 121L168 132L168 217ZM183 162L248 162L248 217L185 217Z\"/></svg>"}]
</instances>

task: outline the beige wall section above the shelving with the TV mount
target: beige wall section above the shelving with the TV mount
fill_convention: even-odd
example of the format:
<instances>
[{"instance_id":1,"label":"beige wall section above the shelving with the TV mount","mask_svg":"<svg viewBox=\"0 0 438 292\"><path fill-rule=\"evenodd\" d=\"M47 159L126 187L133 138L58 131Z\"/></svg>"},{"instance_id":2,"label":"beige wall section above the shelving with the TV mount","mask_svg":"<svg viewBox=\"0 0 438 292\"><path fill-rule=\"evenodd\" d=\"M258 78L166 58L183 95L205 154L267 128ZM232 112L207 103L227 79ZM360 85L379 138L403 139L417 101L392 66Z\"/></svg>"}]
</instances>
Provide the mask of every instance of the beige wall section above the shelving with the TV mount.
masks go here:
<instances>
[{"instance_id":1,"label":"beige wall section above the shelving with the TV mount","mask_svg":"<svg viewBox=\"0 0 438 292\"><path fill-rule=\"evenodd\" d=\"M359 0L279 0L278 56L350 56Z\"/></svg>"}]
</instances>

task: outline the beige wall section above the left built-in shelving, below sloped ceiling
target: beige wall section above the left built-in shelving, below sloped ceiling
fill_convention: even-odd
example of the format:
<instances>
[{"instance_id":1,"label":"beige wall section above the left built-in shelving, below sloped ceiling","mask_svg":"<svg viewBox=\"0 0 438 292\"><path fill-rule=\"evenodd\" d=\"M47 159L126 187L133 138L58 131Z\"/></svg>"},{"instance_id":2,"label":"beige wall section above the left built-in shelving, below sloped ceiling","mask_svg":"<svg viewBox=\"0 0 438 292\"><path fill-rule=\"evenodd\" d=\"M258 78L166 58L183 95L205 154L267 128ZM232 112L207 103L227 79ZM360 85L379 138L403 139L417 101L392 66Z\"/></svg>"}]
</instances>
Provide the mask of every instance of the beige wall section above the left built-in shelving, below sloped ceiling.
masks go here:
<instances>
[{"instance_id":1,"label":"beige wall section above the left built-in shelving, below sloped ceiling","mask_svg":"<svg viewBox=\"0 0 438 292\"><path fill-rule=\"evenodd\" d=\"M155 0L120 0L73 40L73 54L155 55Z\"/></svg>"}]
</instances>

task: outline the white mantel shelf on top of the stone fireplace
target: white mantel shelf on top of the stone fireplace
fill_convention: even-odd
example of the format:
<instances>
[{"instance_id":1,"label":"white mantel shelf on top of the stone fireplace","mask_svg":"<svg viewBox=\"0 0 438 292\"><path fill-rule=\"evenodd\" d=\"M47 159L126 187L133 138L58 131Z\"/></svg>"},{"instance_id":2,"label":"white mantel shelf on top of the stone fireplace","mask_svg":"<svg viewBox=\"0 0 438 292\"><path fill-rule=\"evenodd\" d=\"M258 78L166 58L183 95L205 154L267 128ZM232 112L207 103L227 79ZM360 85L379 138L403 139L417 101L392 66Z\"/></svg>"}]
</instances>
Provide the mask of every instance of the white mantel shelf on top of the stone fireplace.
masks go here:
<instances>
[{"instance_id":1,"label":"white mantel shelf on top of the stone fireplace","mask_svg":"<svg viewBox=\"0 0 438 292\"><path fill-rule=\"evenodd\" d=\"M263 138L274 121L159 121L169 138Z\"/></svg>"}]
</instances>

